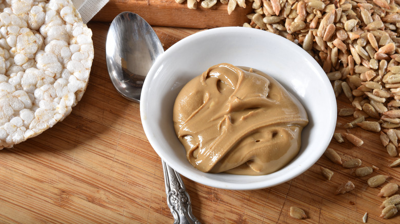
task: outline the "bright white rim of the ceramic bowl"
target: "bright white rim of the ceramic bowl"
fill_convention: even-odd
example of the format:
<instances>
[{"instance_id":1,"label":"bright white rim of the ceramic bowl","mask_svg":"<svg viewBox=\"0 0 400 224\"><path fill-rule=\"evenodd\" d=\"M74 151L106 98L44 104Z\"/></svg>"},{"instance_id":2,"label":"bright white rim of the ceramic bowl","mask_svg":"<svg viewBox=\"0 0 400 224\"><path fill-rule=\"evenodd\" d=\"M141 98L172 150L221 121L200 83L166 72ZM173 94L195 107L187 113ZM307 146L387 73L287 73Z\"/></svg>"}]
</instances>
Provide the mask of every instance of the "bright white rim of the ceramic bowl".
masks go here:
<instances>
[{"instance_id":1,"label":"bright white rim of the ceramic bowl","mask_svg":"<svg viewBox=\"0 0 400 224\"><path fill-rule=\"evenodd\" d=\"M147 137L148 141L150 142L151 146L153 147L154 151L158 154L158 156L161 157L161 159L164 160L165 158L168 158L168 156L166 157L167 152L162 150L163 146L158 143L158 141L155 139L155 137L150 135L151 130L147 123L148 121L146 119L147 108L146 108L146 104L145 104L145 101L148 98L148 91L146 91L146 90L149 89L149 87L152 83L153 76L155 75L155 73L158 70L158 66L164 61L164 58L168 58L170 56L170 54L173 54L173 52L176 49L179 49L188 43L196 42L205 36L215 36L215 35L219 35L221 33L223 33L224 35L226 35L226 34L235 35L237 33L243 33L244 31L248 32L248 35L265 35L266 38L271 38L272 40L283 41L284 44L289 44L291 47L294 48L294 50L298 51L299 54L302 54L303 57L305 57L307 59L307 61L312 64L312 66L314 67L315 70L317 70L321 75L322 74L324 75L321 77L324 80L324 83L330 84L330 81L329 81L328 77L326 76L326 73L323 71L321 66L315 61L315 59L311 55L309 55L306 51L304 51L301 47L299 47L297 44L293 43L292 41L290 41L282 36L272 34L272 33L269 33L267 31L263 31L263 30L258 30L258 29L254 29L254 28L245 28L245 27L213 28L213 29L209 29L209 30L199 31L195 34L189 35L189 36L185 37L184 39L179 40L178 42L173 44L173 46L171 46L169 49L167 49L162 55L160 55L156 59L155 63L153 64L152 68L150 69L150 71L148 73L148 76L144 82L143 89L142 89L142 100L140 102L142 125L143 125L143 128L146 133L146 137ZM336 125L336 119L337 119L337 104L336 104L336 98L335 98L335 95L333 92L333 88L327 89L327 91L330 93L329 96L327 96L327 98L329 98L329 102L331 102L329 118L332 120L332 122L328 123L329 125L327 124L327 126L326 126L327 129L326 129L326 133L324 134L324 138L321 138L321 140L323 140L325 143L321 146L324 149L326 149L329 146L329 143L333 137L333 133L335 130L335 125ZM276 185L279 185L279 184L282 184L282 183L292 180L293 178L304 173L311 166L313 166L318 161L318 159L321 158L324 151L325 150L317 151L317 153L313 154L312 160L310 160L309 163L304 164L302 167L299 167L296 170L291 169L290 175L288 177L279 178L279 181L274 181L273 183L271 183L271 180L268 180L268 178L267 178L267 180L265 180L265 181L253 182L251 184L249 184L249 183L228 183L227 184L227 182L224 182L224 181L211 180L210 178L207 178L205 175L199 176L197 174L193 174L190 170L182 169L180 166L176 165L172 161L168 161L168 159L164 160L164 161L171 168L176 170L178 173L182 174L183 176L185 176L185 177L189 178L190 180L197 182L199 184L203 184L203 185L215 187L215 188L229 189L229 190L255 190L255 189L263 189L263 188L273 187L273 186L276 186ZM282 168L281 170L284 170L284 169L285 169L285 167ZM278 172L278 171L276 171L276 172ZM274 172L274 173L276 173L276 172ZM274 173L271 173L271 174L274 174ZM267 175L271 175L271 174L267 174ZM235 175L235 174L219 173L218 175ZM265 175L254 176L254 179L261 180L263 176L265 176Z\"/></svg>"}]
</instances>

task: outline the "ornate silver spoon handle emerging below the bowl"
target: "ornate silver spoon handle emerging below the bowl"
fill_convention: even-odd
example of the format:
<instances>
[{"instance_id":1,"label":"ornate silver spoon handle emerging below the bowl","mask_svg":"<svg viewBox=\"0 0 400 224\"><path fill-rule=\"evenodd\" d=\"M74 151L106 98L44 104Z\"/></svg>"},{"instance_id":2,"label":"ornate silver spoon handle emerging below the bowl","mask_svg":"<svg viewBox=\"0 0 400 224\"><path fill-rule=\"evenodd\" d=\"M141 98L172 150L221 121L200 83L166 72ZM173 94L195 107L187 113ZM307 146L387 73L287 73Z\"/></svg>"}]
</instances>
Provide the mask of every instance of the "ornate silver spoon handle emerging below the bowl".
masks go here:
<instances>
[{"instance_id":1,"label":"ornate silver spoon handle emerging below the bowl","mask_svg":"<svg viewBox=\"0 0 400 224\"><path fill-rule=\"evenodd\" d=\"M192 214L192 204L181 175L169 167L163 160L165 192L167 193L168 207L174 216L174 224L200 224Z\"/></svg>"}]
</instances>

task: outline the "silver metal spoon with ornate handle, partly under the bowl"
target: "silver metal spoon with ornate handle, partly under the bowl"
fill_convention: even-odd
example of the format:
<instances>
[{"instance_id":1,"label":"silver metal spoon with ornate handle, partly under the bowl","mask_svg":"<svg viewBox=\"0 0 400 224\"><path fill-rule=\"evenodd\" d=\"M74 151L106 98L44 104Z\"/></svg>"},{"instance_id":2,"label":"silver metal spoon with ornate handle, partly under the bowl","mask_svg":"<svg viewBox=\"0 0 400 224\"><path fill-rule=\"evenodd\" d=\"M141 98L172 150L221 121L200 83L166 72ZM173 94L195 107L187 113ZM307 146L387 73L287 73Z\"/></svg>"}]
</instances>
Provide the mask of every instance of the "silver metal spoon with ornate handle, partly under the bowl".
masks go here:
<instances>
[{"instance_id":1,"label":"silver metal spoon with ornate handle, partly under the bowl","mask_svg":"<svg viewBox=\"0 0 400 224\"><path fill-rule=\"evenodd\" d=\"M117 15L106 40L106 60L112 84L128 100L139 102L145 77L158 55L164 52L154 30L132 12ZM200 223L192 214L189 194L181 175L164 161L165 191L174 223Z\"/></svg>"}]
</instances>

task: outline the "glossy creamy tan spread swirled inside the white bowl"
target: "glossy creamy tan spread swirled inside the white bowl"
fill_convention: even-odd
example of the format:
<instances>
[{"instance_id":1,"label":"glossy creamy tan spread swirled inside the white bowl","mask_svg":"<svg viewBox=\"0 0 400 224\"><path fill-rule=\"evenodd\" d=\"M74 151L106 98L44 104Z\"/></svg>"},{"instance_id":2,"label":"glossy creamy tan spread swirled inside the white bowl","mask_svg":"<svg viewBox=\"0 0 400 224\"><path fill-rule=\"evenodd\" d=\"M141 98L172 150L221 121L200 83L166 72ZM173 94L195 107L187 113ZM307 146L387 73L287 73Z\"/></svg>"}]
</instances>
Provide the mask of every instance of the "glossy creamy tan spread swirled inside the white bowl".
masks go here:
<instances>
[{"instance_id":1,"label":"glossy creamy tan spread swirled inside the white bowl","mask_svg":"<svg viewBox=\"0 0 400 224\"><path fill-rule=\"evenodd\" d=\"M270 76L222 63L183 87L173 122L188 161L198 170L263 175L297 155L308 117Z\"/></svg>"}]
</instances>

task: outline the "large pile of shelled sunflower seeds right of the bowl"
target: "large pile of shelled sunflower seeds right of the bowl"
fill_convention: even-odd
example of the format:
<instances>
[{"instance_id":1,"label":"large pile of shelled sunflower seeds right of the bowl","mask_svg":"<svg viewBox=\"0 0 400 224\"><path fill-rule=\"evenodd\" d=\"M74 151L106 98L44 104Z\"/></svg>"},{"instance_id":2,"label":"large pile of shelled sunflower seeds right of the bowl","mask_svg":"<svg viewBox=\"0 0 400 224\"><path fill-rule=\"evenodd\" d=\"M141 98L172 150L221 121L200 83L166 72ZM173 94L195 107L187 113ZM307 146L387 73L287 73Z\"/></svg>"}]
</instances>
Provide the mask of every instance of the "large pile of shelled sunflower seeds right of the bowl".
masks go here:
<instances>
[{"instance_id":1,"label":"large pile of shelled sunflower seeds right of the bowl","mask_svg":"<svg viewBox=\"0 0 400 224\"><path fill-rule=\"evenodd\" d=\"M244 27L267 30L299 44L322 66L336 96L354 116L344 127L380 132L390 156L400 138L399 0L252 0ZM369 121L366 119L369 118ZM361 139L342 133L356 146ZM336 133L335 138L343 141ZM340 138L340 139L339 139Z\"/></svg>"}]
</instances>

